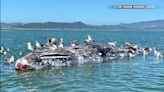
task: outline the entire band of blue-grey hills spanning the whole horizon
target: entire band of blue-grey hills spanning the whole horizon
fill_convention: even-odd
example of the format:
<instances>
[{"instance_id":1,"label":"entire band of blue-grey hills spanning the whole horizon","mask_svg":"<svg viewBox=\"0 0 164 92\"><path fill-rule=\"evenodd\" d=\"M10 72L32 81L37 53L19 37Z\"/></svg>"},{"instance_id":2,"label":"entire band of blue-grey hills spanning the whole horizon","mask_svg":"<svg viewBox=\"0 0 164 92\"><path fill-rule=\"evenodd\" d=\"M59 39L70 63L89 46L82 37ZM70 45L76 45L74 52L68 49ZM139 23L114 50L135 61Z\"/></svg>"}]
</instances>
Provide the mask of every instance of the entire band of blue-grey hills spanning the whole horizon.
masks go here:
<instances>
[{"instance_id":1,"label":"entire band of blue-grey hills spanning the whole horizon","mask_svg":"<svg viewBox=\"0 0 164 92\"><path fill-rule=\"evenodd\" d=\"M109 31L141 31L159 30L164 31L164 20L143 21L119 25L87 25L82 22L45 22L45 23L4 23L1 22L2 29L14 30L109 30Z\"/></svg>"}]
</instances>

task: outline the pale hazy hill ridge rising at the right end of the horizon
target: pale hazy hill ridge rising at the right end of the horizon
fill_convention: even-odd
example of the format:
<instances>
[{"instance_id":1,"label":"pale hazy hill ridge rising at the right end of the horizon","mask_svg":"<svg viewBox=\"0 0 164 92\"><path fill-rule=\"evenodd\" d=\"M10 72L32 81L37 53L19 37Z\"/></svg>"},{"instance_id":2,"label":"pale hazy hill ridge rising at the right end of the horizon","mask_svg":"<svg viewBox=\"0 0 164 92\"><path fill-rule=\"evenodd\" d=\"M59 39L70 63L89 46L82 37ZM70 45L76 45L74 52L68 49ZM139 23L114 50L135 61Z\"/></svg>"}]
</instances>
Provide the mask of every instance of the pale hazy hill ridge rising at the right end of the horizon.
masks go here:
<instances>
[{"instance_id":1,"label":"pale hazy hill ridge rising at the right end of the horizon","mask_svg":"<svg viewBox=\"0 0 164 92\"><path fill-rule=\"evenodd\" d=\"M130 24L121 23L119 25L127 28L142 28L144 26L150 26L150 25L164 26L164 20L143 21L143 22L135 22Z\"/></svg>"}]
</instances>

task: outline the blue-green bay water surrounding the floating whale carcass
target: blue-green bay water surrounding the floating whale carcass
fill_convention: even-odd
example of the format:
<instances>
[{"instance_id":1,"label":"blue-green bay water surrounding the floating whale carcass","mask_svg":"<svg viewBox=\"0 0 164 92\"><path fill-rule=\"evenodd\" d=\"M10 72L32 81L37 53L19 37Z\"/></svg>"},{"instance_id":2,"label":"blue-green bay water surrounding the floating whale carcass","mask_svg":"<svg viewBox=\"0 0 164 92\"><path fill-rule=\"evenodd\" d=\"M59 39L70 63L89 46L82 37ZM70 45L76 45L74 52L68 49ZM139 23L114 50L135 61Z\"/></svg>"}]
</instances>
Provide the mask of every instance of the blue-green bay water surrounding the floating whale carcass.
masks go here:
<instances>
[{"instance_id":1,"label":"blue-green bay water surrounding the floating whale carcass","mask_svg":"<svg viewBox=\"0 0 164 92\"><path fill-rule=\"evenodd\" d=\"M7 58L14 55L15 61L22 57L19 51L30 53L27 42L35 46L35 41L46 43L44 37L63 38L64 46L74 39L83 44L87 35L95 39L93 44L107 45L117 41L121 46L125 41L141 44L142 47L156 47L164 52L164 31L38 31L38 30L1 30L1 46L10 48L6 57L1 57L1 91L32 92L163 92L164 59L157 59L154 52L144 57L105 60L101 63L85 63L50 69L19 71L14 64L9 65ZM156 42L152 45L152 42ZM124 46L124 45L123 45Z\"/></svg>"}]
</instances>

